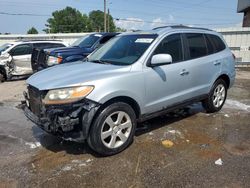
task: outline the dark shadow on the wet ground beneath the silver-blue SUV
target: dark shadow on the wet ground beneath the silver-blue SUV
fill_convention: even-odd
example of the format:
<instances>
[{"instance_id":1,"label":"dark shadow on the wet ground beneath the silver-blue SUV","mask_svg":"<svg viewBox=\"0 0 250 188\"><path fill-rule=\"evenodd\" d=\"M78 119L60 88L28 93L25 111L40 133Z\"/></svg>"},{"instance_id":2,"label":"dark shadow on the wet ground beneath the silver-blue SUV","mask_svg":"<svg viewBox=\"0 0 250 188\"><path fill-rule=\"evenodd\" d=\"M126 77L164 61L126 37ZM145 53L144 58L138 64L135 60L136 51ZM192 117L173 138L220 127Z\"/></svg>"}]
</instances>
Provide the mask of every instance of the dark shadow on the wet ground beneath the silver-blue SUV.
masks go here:
<instances>
[{"instance_id":1,"label":"dark shadow on the wet ground beneath the silver-blue SUV","mask_svg":"<svg viewBox=\"0 0 250 188\"><path fill-rule=\"evenodd\" d=\"M149 133L153 130L169 126L172 123L181 121L200 112L204 112L201 104L195 103L174 112L167 113L163 116L153 118L143 123L139 123L136 128L135 136L139 137L140 135ZM32 131L34 137L41 143L42 147L52 152L56 153L65 151L66 153L73 155L90 154L94 157L101 157L100 155L93 152L86 142L77 143L72 141L65 141L56 136L47 134L37 126L33 126Z\"/></svg>"}]
</instances>

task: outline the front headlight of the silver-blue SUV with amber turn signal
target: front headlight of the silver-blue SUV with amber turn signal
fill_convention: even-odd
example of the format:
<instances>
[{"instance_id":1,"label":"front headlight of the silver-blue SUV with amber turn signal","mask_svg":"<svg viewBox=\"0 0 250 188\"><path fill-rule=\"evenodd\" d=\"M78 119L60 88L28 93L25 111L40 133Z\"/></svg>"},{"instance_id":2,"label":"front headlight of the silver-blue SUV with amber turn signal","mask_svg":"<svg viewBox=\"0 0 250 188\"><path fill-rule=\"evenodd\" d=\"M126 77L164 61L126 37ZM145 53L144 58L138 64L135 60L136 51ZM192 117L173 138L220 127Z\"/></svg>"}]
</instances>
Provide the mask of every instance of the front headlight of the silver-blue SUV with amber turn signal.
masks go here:
<instances>
[{"instance_id":1,"label":"front headlight of the silver-blue SUV with amber turn signal","mask_svg":"<svg viewBox=\"0 0 250 188\"><path fill-rule=\"evenodd\" d=\"M94 86L79 86L50 90L43 99L43 103L49 105L76 102L90 94L93 89Z\"/></svg>"}]
</instances>

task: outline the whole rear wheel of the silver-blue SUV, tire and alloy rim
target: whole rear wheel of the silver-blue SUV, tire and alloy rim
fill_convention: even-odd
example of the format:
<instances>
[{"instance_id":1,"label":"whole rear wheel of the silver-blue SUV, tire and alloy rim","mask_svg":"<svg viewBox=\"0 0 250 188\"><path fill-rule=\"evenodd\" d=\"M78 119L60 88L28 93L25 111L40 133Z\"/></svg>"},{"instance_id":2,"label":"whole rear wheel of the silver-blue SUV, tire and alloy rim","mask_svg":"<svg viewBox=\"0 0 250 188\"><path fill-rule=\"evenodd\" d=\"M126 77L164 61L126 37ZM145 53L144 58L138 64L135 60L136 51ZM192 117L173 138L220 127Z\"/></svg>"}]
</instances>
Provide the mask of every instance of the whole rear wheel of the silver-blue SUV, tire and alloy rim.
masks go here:
<instances>
[{"instance_id":1,"label":"whole rear wheel of the silver-blue SUV, tire and alloy rim","mask_svg":"<svg viewBox=\"0 0 250 188\"><path fill-rule=\"evenodd\" d=\"M208 98L202 101L202 106L207 113L218 112L224 105L226 98L227 84L223 79L218 79L210 90Z\"/></svg>"}]
</instances>

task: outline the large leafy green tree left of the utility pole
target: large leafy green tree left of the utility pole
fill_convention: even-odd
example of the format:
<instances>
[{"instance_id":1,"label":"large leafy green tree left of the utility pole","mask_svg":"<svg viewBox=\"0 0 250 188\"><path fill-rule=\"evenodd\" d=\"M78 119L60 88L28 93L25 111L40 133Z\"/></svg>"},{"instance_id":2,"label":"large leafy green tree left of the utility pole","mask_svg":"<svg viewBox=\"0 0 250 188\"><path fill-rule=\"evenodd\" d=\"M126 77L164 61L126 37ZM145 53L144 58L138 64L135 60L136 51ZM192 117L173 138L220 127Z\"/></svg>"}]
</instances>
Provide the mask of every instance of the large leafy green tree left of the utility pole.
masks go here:
<instances>
[{"instance_id":1,"label":"large leafy green tree left of the utility pole","mask_svg":"<svg viewBox=\"0 0 250 188\"><path fill-rule=\"evenodd\" d=\"M46 33L80 33L91 30L88 16L72 7L53 12L47 22L44 30Z\"/></svg>"}]
</instances>

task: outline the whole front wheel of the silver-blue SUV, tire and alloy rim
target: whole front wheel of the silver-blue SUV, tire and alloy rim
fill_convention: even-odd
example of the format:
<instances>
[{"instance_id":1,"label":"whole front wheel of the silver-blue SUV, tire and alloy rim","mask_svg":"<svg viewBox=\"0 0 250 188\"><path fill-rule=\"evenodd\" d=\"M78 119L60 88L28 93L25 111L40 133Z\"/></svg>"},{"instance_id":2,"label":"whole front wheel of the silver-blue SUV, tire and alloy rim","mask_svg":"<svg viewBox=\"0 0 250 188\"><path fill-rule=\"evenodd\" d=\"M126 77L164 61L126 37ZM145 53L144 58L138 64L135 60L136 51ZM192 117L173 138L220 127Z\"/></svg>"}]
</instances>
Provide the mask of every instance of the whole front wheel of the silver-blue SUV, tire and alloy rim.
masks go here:
<instances>
[{"instance_id":1,"label":"whole front wheel of the silver-blue SUV, tire and alloy rim","mask_svg":"<svg viewBox=\"0 0 250 188\"><path fill-rule=\"evenodd\" d=\"M132 107L123 102L113 103L97 114L88 145L102 156L117 154L132 143L135 128L136 115Z\"/></svg>"}]
</instances>

